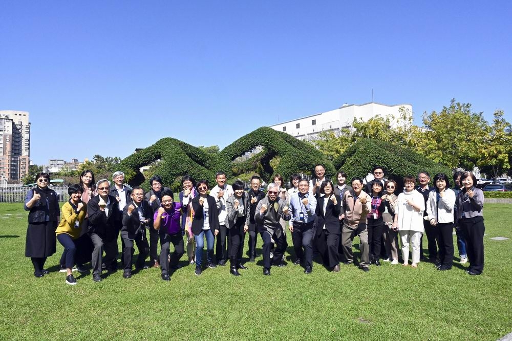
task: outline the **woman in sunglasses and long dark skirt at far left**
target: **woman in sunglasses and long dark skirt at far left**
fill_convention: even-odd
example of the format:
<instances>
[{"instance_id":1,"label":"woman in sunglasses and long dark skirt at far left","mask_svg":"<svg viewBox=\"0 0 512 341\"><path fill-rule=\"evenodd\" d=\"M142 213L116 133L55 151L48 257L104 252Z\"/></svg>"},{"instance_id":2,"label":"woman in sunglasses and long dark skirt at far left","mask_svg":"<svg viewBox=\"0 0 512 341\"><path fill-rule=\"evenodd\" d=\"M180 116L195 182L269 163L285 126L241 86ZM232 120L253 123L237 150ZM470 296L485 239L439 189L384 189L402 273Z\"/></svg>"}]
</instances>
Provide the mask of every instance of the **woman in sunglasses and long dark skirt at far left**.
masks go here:
<instances>
[{"instance_id":1,"label":"woman in sunglasses and long dark skirt at far left","mask_svg":"<svg viewBox=\"0 0 512 341\"><path fill-rule=\"evenodd\" d=\"M57 194L48 188L50 175L38 173L35 178L37 186L27 192L24 205L29 211L25 257L30 257L34 276L39 278L49 273L44 269L45 262L56 251L60 208Z\"/></svg>"}]
</instances>

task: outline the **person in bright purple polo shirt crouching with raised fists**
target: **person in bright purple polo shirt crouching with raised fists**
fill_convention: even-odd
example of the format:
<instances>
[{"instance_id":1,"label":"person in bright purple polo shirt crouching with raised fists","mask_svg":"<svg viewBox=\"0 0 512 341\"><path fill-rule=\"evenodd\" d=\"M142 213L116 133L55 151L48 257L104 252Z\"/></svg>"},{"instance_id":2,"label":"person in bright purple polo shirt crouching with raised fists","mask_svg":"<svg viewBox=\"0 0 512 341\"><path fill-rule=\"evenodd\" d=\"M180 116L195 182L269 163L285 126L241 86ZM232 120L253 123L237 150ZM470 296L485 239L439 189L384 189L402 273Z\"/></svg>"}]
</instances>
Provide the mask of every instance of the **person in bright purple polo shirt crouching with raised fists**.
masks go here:
<instances>
[{"instance_id":1,"label":"person in bright purple polo shirt crouching with raised fists","mask_svg":"<svg viewBox=\"0 0 512 341\"><path fill-rule=\"evenodd\" d=\"M153 226L160 237L162 280L169 281L169 263L171 269L178 269L178 261L185 252L180 224L183 208L179 202L173 201L173 193L167 189L162 191L160 203L162 206L155 212ZM174 245L174 252L169 262L170 243Z\"/></svg>"}]
</instances>

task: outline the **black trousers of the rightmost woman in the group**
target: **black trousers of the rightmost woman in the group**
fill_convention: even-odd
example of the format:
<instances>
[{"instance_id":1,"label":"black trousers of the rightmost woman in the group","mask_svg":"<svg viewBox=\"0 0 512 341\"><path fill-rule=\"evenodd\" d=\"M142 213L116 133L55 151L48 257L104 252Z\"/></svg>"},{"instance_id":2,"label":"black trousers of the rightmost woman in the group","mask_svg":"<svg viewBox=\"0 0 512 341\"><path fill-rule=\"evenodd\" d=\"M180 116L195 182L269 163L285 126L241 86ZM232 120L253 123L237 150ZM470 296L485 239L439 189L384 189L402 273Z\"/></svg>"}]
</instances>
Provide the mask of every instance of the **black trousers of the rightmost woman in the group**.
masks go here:
<instances>
[{"instance_id":1,"label":"black trousers of the rightmost woman in the group","mask_svg":"<svg viewBox=\"0 0 512 341\"><path fill-rule=\"evenodd\" d=\"M462 218L459 220L459 226L466 239L466 254L470 261L469 270L475 273L483 271L483 235L485 226L483 217Z\"/></svg>"}]
</instances>

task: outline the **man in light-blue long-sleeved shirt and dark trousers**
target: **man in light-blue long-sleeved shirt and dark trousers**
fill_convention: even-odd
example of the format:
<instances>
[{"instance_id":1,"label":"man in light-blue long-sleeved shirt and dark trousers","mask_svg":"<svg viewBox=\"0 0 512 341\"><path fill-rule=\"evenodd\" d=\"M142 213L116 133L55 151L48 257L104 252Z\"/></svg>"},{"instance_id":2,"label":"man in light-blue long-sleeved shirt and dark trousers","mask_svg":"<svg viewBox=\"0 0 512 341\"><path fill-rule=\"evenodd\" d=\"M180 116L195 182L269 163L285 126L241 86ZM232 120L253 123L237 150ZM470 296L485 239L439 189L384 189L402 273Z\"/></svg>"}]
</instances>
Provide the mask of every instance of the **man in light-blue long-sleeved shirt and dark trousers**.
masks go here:
<instances>
[{"instance_id":1,"label":"man in light-blue long-sleeved shirt and dark trousers","mask_svg":"<svg viewBox=\"0 0 512 341\"><path fill-rule=\"evenodd\" d=\"M290 198L292 220L288 228L295 250L295 262L304 262L304 273L313 269L313 235L316 218L316 198L309 192L309 182L302 179L298 182L298 193ZM304 250L303 250L304 248Z\"/></svg>"}]
</instances>

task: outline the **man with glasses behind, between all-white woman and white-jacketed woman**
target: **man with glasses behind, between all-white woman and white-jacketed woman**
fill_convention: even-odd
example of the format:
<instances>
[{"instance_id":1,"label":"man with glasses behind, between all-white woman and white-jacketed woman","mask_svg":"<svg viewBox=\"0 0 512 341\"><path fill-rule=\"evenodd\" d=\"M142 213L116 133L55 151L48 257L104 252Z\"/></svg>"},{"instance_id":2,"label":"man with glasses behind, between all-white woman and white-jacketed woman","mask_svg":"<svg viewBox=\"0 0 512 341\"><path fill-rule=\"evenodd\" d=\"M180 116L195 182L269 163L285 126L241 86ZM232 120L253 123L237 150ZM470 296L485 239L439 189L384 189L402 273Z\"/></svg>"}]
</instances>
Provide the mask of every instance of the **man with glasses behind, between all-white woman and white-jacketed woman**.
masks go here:
<instances>
[{"instance_id":1,"label":"man with glasses behind, between all-white woman and white-jacketed woman","mask_svg":"<svg viewBox=\"0 0 512 341\"><path fill-rule=\"evenodd\" d=\"M416 190L423 196L425 199L425 207L426 201L429 199L430 191L434 190L433 186L429 186L430 182L430 174L429 172L421 172L418 174L418 182L419 185L416 187ZM423 211L423 217L428 216L426 213L426 209ZM430 225L430 221L425 220L423 218L423 227L425 228L426 240L429 241L429 260L430 262L438 265L438 245L439 245L439 228L436 226ZM424 260L423 255L423 233L421 233L421 242L420 242L420 260Z\"/></svg>"}]
</instances>

